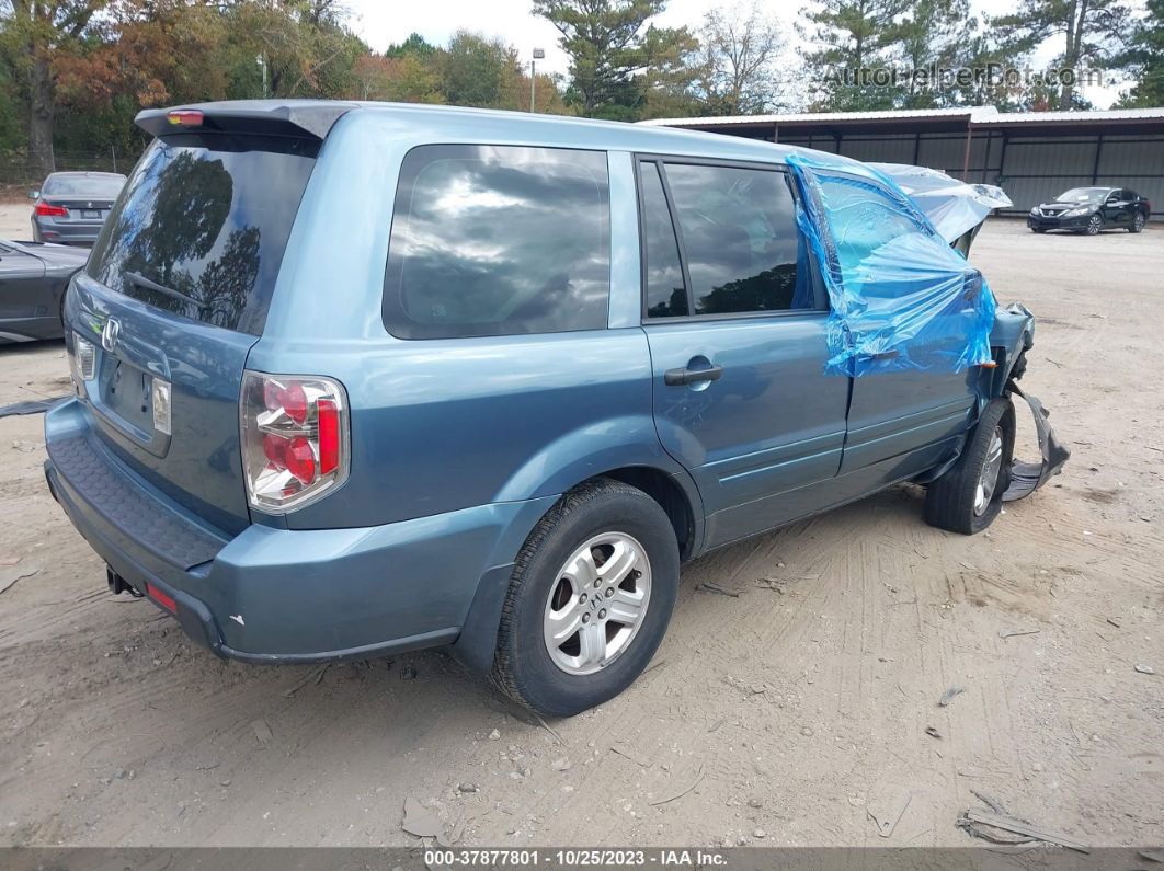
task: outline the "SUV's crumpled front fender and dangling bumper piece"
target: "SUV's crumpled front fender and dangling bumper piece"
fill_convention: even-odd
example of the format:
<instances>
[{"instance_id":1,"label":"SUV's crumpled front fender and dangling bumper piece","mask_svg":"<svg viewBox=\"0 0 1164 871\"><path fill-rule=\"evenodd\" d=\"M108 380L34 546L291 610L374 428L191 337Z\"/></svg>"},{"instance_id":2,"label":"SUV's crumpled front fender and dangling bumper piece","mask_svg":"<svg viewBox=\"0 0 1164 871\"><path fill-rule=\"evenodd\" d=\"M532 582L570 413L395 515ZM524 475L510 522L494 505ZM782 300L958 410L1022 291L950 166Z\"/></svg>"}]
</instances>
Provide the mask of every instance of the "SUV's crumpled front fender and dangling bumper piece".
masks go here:
<instances>
[{"instance_id":1,"label":"SUV's crumpled front fender and dangling bumper piece","mask_svg":"<svg viewBox=\"0 0 1164 871\"><path fill-rule=\"evenodd\" d=\"M1002 494L1002 501L1013 502L1029 497L1042 487L1049 478L1063 471L1063 464L1071 456L1070 449L1055 435L1049 422L1050 412L1029 393L1020 390L1016 381L1027 371L1027 352L1035 344L1035 315L1021 302L999 309L991 330L991 348L995 351L995 367L991 381L991 397L1018 395L1027 400L1035 417L1038 449L1042 461L1028 463L1015 458L1010 465L1010 484Z\"/></svg>"}]
</instances>

